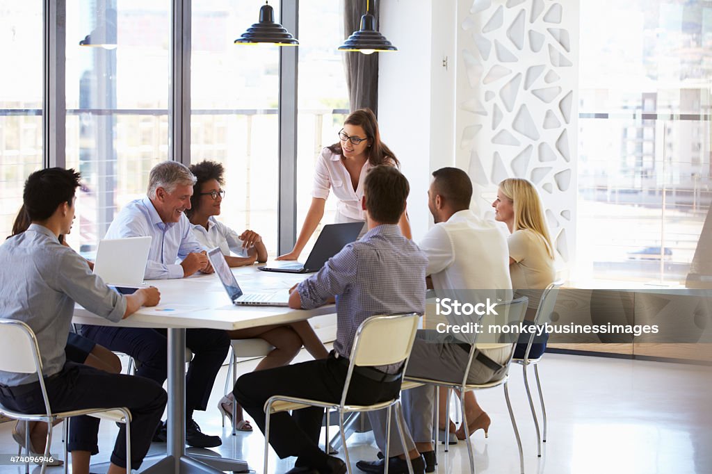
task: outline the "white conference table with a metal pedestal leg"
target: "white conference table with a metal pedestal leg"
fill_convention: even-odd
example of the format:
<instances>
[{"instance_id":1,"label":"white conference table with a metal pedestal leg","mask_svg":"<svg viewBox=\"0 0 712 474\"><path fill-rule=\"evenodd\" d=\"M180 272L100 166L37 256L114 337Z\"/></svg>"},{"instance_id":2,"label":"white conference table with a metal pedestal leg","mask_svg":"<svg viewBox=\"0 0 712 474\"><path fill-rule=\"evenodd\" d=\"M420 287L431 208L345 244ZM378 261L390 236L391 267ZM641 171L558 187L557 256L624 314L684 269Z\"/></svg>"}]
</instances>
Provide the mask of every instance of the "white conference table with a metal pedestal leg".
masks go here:
<instances>
[{"instance_id":1,"label":"white conference table with a metal pedestal leg","mask_svg":"<svg viewBox=\"0 0 712 474\"><path fill-rule=\"evenodd\" d=\"M256 266L233 268L244 293L285 291L308 275L262 272ZM142 307L118 323L98 317L77 305L73 322L83 325L152 327L168 334L168 441L166 457L144 473L221 473L247 471L242 460L187 454L185 447L185 330L209 328L238 330L262 325L286 324L335 312L334 305L315 310L274 306L233 305L217 275L193 275L179 280L150 280L161 292L157 307Z\"/></svg>"}]
</instances>

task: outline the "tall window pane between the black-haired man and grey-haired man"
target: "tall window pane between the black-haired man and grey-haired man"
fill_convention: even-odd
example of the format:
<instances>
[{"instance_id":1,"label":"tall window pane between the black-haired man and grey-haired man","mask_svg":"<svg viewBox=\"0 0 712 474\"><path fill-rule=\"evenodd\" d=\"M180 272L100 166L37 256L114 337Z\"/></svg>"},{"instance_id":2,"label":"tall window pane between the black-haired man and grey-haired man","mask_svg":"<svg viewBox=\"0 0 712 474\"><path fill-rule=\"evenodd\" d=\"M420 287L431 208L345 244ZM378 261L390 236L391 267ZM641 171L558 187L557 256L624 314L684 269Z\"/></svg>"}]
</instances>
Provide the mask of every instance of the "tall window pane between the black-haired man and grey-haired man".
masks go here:
<instances>
[{"instance_id":1,"label":"tall window pane between the black-haired man and grey-haired man","mask_svg":"<svg viewBox=\"0 0 712 474\"><path fill-rule=\"evenodd\" d=\"M95 250L117 212L168 159L169 1L68 1L66 167L82 173L73 248ZM112 33L112 30L114 31ZM79 46L86 35L115 46Z\"/></svg>"}]
</instances>

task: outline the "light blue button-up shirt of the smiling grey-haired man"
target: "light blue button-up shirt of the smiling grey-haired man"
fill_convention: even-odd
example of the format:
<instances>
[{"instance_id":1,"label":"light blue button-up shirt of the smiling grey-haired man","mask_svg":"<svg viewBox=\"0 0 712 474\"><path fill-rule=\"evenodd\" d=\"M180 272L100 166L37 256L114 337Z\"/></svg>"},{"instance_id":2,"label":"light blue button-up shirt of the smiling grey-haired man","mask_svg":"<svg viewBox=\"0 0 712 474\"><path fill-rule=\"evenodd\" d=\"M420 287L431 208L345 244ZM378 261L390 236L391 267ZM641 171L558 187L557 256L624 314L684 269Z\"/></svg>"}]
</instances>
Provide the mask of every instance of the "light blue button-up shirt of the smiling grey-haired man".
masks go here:
<instances>
[{"instance_id":1,"label":"light blue button-up shirt of the smiling grey-haired man","mask_svg":"<svg viewBox=\"0 0 712 474\"><path fill-rule=\"evenodd\" d=\"M164 223L148 197L136 199L121 209L109 226L105 238L151 236L151 250L146 265L146 280L183 278L179 261L189 253L199 253L201 246L183 214L178 222Z\"/></svg>"}]
</instances>

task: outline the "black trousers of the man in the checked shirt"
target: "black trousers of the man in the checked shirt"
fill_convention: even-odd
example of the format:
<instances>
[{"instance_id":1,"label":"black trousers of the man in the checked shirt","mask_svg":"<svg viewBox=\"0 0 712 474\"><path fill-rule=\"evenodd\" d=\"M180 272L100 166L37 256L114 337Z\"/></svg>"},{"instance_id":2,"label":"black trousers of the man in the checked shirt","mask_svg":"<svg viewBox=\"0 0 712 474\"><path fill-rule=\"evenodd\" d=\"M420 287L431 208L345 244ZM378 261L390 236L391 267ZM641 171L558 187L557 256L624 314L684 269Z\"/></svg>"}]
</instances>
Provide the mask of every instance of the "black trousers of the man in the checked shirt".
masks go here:
<instances>
[{"instance_id":1,"label":"black trousers of the man in the checked shirt","mask_svg":"<svg viewBox=\"0 0 712 474\"><path fill-rule=\"evenodd\" d=\"M338 403L344 389L347 359L313 360L276 369L251 372L235 384L235 399L247 411L264 433L264 404L273 395L298 396L305 399ZM354 372L347 403L375 404L394 399L401 381L382 382ZM324 410L310 407L281 412L270 419L270 444L280 458L308 455L318 450L319 433Z\"/></svg>"}]
</instances>

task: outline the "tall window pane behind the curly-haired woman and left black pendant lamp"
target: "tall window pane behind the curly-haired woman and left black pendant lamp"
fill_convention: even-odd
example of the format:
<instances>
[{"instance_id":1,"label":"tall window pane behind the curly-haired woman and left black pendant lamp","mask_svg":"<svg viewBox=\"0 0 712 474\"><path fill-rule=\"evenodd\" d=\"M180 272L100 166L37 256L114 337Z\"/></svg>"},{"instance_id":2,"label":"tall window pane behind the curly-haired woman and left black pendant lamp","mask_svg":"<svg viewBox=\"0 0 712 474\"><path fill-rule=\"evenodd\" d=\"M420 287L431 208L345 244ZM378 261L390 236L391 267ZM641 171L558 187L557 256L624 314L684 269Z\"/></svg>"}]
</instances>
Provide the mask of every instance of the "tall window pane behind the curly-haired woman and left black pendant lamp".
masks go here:
<instances>
[{"instance_id":1,"label":"tall window pane behind the curly-haired woman and left black pendant lamp","mask_svg":"<svg viewBox=\"0 0 712 474\"><path fill-rule=\"evenodd\" d=\"M279 2L270 4L280 18ZM234 41L258 21L260 3L192 3L191 162L221 162L219 217L277 248L279 47Z\"/></svg>"}]
</instances>

